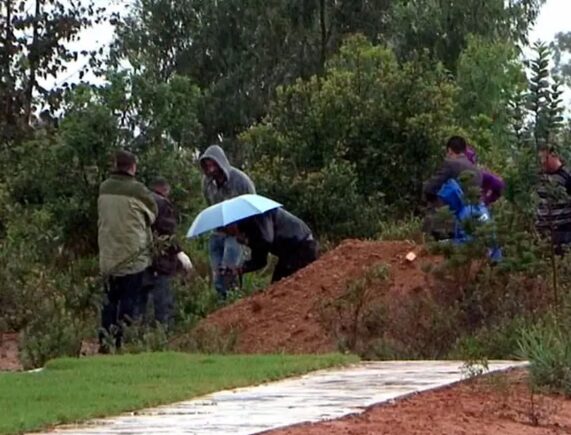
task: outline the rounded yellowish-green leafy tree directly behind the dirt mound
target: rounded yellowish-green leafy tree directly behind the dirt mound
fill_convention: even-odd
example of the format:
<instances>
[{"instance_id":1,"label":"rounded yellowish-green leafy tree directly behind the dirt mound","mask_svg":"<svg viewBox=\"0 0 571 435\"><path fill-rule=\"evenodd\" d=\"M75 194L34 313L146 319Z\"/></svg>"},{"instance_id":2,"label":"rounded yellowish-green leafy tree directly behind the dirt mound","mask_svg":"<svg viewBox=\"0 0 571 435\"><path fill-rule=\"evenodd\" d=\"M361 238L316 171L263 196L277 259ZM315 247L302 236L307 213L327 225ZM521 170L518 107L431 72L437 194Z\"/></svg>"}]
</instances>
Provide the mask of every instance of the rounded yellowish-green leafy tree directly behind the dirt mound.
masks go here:
<instances>
[{"instance_id":1,"label":"rounded yellowish-green leafy tree directly behind the dirt mound","mask_svg":"<svg viewBox=\"0 0 571 435\"><path fill-rule=\"evenodd\" d=\"M280 87L268 117L242 139L258 179L267 180L265 188L279 191L288 206L306 203L311 191L292 187L288 194L288 186L326 179L335 167L345 188L355 189L338 186L323 199L335 208L355 199L352 213L342 219L363 215L366 206L359 201L376 210L386 205L394 213L411 212L444 139L455 130L456 91L440 64L426 59L399 64L390 49L356 36L328 61L322 77ZM309 221L320 209L311 204L300 211Z\"/></svg>"}]
</instances>

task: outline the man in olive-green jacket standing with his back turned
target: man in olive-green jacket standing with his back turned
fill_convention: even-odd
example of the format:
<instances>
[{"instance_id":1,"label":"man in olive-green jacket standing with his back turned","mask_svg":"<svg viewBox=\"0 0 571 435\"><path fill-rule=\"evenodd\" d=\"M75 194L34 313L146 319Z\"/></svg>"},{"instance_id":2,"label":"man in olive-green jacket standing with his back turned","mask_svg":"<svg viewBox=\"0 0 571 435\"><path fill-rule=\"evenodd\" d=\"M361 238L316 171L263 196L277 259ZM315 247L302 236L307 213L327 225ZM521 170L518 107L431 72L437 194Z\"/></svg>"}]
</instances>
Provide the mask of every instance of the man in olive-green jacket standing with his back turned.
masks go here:
<instances>
[{"instance_id":1,"label":"man in olive-green jacket standing with his back turned","mask_svg":"<svg viewBox=\"0 0 571 435\"><path fill-rule=\"evenodd\" d=\"M122 345L122 324L136 315L143 274L151 264L151 225L157 204L135 179L137 159L118 151L111 176L99 187L97 200L99 267L105 280L99 351L110 351L106 337Z\"/></svg>"}]
</instances>

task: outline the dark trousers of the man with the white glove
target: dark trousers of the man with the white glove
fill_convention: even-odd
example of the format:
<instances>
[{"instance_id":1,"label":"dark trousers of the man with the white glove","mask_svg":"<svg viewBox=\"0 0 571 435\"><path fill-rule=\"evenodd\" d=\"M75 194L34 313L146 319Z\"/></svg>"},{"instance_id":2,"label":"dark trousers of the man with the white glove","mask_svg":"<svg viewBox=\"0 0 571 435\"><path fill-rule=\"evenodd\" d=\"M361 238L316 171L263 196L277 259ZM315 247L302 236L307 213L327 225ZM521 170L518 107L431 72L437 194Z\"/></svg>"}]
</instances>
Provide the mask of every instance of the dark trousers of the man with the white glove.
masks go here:
<instances>
[{"instance_id":1,"label":"dark trousers of the man with the white glove","mask_svg":"<svg viewBox=\"0 0 571 435\"><path fill-rule=\"evenodd\" d=\"M146 317L149 299L153 301L155 321L168 327L174 306L171 291L171 277L169 275L155 272L152 269L145 271L143 290L140 294L138 304L138 312L143 317Z\"/></svg>"}]
</instances>

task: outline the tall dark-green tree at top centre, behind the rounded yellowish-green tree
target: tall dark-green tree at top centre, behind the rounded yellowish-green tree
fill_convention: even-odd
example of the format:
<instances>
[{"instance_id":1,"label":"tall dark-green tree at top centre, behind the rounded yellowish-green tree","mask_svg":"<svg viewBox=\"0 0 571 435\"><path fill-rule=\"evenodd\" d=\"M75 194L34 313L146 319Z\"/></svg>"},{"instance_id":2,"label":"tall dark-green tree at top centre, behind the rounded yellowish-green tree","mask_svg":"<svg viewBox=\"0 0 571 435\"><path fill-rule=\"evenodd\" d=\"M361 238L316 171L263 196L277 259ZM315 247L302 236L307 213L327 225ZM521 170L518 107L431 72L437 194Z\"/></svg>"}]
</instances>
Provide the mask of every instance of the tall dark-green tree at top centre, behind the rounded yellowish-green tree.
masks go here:
<instances>
[{"instance_id":1,"label":"tall dark-green tree at top centre, behind the rounded yellowish-green tree","mask_svg":"<svg viewBox=\"0 0 571 435\"><path fill-rule=\"evenodd\" d=\"M322 72L348 33L376 39L388 0L138 0L119 23L114 56L204 91L204 145L266 114L275 89Z\"/></svg>"}]
</instances>

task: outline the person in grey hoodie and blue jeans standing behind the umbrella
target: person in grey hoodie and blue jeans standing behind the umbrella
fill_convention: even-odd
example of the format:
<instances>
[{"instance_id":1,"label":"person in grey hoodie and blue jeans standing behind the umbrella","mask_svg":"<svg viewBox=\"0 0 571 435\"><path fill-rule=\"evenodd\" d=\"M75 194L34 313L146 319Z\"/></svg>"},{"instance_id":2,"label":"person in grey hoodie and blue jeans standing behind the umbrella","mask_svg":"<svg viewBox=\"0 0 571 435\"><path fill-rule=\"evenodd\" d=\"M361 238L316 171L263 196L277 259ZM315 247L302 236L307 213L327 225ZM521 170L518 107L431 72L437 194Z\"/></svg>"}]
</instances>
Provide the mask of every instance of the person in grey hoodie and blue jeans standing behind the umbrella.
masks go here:
<instances>
[{"instance_id":1,"label":"person in grey hoodie and blue jeans standing behind the umbrella","mask_svg":"<svg viewBox=\"0 0 571 435\"><path fill-rule=\"evenodd\" d=\"M218 145L209 146L200 156L202 193L208 205L248 193L256 193L254 183L244 172L230 165L224 150ZM210 267L214 287L225 299L228 290L238 282L236 271L243 262L243 249L235 237L215 231L209 244Z\"/></svg>"}]
</instances>

